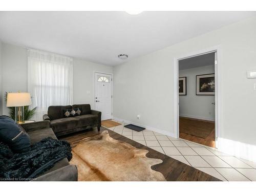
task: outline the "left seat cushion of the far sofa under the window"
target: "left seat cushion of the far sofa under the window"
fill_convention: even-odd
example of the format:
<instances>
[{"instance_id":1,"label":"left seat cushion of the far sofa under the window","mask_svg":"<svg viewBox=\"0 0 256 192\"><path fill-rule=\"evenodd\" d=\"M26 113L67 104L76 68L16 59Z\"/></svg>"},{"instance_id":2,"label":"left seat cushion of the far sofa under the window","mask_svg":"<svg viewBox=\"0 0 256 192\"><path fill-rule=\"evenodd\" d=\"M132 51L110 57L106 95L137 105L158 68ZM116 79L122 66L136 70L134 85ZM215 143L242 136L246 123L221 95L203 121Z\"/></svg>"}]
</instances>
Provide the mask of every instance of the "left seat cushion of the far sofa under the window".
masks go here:
<instances>
[{"instance_id":1,"label":"left seat cushion of the far sofa under the window","mask_svg":"<svg viewBox=\"0 0 256 192\"><path fill-rule=\"evenodd\" d=\"M78 120L75 117L54 119L50 123L54 133L72 130L78 126Z\"/></svg>"}]
</instances>

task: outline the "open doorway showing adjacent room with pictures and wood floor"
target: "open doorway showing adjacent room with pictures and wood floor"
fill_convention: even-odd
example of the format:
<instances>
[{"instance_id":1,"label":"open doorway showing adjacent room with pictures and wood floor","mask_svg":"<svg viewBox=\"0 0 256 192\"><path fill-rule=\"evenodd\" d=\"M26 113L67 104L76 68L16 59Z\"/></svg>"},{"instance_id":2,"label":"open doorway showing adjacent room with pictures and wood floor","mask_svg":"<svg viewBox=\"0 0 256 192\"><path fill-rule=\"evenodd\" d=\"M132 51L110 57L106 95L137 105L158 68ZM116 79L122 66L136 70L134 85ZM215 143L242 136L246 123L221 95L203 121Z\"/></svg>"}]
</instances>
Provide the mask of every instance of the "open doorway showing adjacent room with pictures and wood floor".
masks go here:
<instances>
[{"instance_id":1,"label":"open doorway showing adjacent room with pictures and wood floor","mask_svg":"<svg viewBox=\"0 0 256 192\"><path fill-rule=\"evenodd\" d=\"M178 137L216 147L217 51L178 59Z\"/></svg>"}]
</instances>

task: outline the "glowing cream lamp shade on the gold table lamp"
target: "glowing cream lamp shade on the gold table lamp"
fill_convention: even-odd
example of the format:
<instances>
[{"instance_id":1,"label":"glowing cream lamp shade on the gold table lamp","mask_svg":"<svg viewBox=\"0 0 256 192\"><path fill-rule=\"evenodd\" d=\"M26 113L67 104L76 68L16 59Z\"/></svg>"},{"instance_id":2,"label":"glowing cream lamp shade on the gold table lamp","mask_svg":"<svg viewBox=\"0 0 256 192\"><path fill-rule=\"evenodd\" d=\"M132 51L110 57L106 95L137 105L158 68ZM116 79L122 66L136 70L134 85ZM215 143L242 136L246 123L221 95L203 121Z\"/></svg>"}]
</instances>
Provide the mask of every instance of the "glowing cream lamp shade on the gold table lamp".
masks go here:
<instances>
[{"instance_id":1,"label":"glowing cream lamp shade on the gold table lamp","mask_svg":"<svg viewBox=\"0 0 256 192\"><path fill-rule=\"evenodd\" d=\"M28 106L31 105L30 93L7 93L6 106Z\"/></svg>"}]
</instances>

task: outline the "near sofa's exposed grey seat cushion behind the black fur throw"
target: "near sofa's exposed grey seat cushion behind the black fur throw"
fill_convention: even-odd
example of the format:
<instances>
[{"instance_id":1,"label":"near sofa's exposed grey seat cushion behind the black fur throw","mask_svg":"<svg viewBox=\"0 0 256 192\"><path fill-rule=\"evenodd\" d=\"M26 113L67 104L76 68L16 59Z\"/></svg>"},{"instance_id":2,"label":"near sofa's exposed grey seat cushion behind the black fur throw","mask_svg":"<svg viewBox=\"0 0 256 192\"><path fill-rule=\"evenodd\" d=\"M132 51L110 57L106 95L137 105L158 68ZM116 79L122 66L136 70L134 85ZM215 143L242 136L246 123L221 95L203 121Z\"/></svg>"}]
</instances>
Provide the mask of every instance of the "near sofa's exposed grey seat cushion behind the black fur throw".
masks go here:
<instances>
[{"instance_id":1,"label":"near sofa's exposed grey seat cushion behind the black fur throw","mask_svg":"<svg viewBox=\"0 0 256 192\"><path fill-rule=\"evenodd\" d=\"M44 129L30 131L28 132L28 135L30 136L31 144L39 142L42 139L45 139L46 137L57 139L57 137L55 136L51 128L44 128Z\"/></svg>"}]
</instances>

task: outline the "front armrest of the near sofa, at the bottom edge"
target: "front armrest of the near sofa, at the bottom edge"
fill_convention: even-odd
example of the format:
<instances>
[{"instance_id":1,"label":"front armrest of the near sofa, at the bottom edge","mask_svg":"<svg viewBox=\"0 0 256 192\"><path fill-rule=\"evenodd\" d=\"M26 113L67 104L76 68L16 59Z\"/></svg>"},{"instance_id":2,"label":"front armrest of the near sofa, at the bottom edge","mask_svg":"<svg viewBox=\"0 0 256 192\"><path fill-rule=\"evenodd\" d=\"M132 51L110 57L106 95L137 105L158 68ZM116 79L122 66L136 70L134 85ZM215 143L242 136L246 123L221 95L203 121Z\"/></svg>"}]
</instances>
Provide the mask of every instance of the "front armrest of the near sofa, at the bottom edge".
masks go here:
<instances>
[{"instance_id":1,"label":"front armrest of the near sofa, at the bottom edge","mask_svg":"<svg viewBox=\"0 0 256 192\"><path fill-rule=\"evenodd\" d=\"M75 165L67 165L47 173L32 181L77 181L78 173Z\"/></svg>"}]
</instances>

